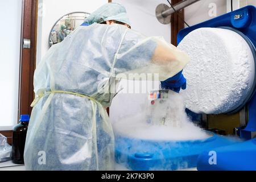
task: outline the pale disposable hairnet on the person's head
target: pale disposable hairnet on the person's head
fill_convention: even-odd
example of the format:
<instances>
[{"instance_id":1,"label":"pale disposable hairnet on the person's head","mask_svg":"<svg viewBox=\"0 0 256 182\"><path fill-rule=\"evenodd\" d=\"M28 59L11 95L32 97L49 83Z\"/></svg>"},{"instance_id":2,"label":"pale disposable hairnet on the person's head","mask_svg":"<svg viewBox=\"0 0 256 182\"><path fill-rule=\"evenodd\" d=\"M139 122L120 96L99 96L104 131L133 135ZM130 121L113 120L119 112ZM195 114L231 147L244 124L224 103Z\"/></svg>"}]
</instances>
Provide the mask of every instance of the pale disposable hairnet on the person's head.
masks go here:
<instances>
[{"instance_id":1,"label":"pale disposable hairnet on the person's head","mask_svg":"<svg viewBox=\"0 0 256 182\"><path fill-rule=\"evenodd\" d=\"M106 20L117 20L130 26L130 20L126 14L125 7L118 3L106 3L101 6L85 19L85 23L102 23L106 22Z\"/></svg>"}]
</instances>

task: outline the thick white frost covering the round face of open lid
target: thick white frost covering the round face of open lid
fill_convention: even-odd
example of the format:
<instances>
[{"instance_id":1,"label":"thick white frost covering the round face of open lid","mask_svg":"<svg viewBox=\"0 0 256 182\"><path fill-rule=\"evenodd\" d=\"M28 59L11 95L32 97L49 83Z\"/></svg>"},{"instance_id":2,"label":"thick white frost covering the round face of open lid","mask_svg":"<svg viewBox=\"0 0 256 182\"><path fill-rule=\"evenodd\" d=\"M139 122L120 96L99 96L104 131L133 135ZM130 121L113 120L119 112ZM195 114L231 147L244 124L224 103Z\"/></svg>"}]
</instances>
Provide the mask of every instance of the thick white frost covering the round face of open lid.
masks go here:
<instances>
[{"instance_id":1,"label":"thick white frost covering the round face of open lid","mask_svg":"<svg viewBox=\"0 0 256 182\"><path fill-rule=\"evenodd\" d=\"M185 36L178 48L191 56L184 69L189 110L220 114L242 104L255 70L253 54L240 35L222 28L199 28Z\"/></svg>"}]
</instances>

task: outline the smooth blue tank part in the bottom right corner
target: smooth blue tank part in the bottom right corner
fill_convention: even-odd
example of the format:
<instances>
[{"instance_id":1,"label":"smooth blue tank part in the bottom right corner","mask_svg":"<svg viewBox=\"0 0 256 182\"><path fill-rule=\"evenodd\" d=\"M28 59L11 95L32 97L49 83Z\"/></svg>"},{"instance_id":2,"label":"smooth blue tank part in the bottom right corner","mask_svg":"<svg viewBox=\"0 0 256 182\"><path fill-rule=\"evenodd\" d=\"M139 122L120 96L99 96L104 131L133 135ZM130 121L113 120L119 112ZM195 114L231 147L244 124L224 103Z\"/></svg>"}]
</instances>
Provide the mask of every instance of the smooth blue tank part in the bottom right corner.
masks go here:
<instances>
[{"instance_id":1,"label":"smooth blue tank part in the bottom right corner","mask_svg":"<svg viewBox=\"0 0 256 182\"><path fill-rule=\"evenodd\" d=\"M209 151L203 152L197 162L199 171L256 171L256 139L214 148L216 162L209 159ZM210 162L209 162L210 160Z\"/></svg>"}]
</instances>

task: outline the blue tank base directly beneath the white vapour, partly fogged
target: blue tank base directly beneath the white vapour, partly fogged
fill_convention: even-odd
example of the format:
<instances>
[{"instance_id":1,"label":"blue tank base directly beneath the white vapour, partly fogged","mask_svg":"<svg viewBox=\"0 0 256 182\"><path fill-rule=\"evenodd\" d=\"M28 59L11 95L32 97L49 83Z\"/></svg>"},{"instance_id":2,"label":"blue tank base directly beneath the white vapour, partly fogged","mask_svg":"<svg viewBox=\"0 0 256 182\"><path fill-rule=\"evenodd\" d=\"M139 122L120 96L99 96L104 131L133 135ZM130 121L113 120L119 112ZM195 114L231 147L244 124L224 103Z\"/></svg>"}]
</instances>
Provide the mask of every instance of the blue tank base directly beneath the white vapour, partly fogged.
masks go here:
<instances>
[{"instance_id":1,"label":"blue tank base directly beneath the white vapour, partly fogged","mask_svg":"<svg viewBox=\"0 0 256 182\"><path fill-rule=\"evenodd\" d=\"M212 134L212 133L211 133ZM196 168L203 151L241 142L212 134L204 140L154 141L115 136L115 161L133 171Z\"/></svg>"}]
</instances>

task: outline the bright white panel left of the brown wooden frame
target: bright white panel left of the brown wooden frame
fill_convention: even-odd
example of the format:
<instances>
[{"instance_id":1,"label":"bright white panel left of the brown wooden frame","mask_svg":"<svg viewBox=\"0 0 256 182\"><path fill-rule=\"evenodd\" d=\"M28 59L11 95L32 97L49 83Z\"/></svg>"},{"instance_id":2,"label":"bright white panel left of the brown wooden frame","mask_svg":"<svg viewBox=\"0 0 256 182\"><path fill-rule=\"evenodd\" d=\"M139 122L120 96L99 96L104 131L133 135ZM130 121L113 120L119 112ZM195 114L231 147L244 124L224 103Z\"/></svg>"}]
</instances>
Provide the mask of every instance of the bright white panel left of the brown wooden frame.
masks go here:
<instances>
[{"instance_id":1,"label":"bright white panel left of the brown wooden frame","mask_svg":"<svg viewBox=\"0 0 256 182\"><path fill-rule=\"evenodd\" d=\"M0 1L0 129L18 119L19 56L22 1Z\"/></svg>"}]
</instances>

